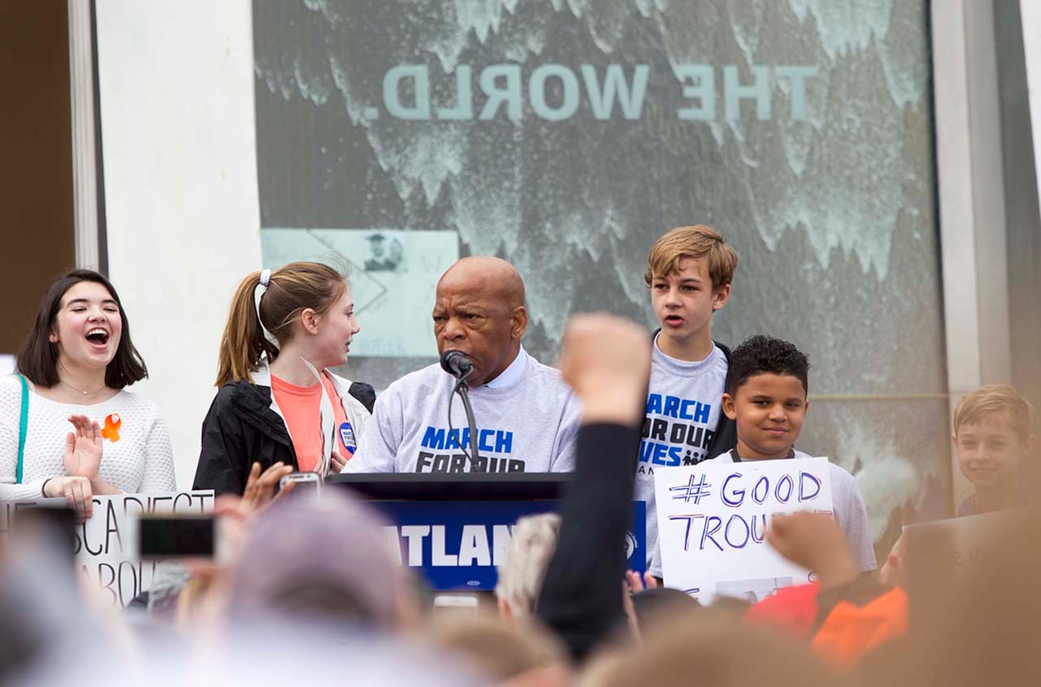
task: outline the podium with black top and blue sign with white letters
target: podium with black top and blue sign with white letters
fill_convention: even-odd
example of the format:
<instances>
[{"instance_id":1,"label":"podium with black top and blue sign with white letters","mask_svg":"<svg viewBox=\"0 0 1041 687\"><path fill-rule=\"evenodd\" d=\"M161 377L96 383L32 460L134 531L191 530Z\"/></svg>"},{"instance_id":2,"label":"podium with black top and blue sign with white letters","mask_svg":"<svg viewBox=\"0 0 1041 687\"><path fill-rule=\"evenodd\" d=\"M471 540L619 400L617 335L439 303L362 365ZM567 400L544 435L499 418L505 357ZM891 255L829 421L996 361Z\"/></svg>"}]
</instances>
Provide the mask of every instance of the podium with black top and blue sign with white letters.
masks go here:
<instances>
[{"instance_id":1,"label":"podium with black top and blue sign with white letters","mask_svg":"<svg viewBox=\"0 0 1041 687\"><path fill-rule=\"evenodd\" d=\"M350 488L393 524L402 563L420 568L438 591L491 590L496 565L518 517L556 512L570 473L340 474L327 488ZM630 567L646 563L645 508L633 502L626 537ZM623 542L619 542L619 545Z\"/></svg>"}]
</instances>

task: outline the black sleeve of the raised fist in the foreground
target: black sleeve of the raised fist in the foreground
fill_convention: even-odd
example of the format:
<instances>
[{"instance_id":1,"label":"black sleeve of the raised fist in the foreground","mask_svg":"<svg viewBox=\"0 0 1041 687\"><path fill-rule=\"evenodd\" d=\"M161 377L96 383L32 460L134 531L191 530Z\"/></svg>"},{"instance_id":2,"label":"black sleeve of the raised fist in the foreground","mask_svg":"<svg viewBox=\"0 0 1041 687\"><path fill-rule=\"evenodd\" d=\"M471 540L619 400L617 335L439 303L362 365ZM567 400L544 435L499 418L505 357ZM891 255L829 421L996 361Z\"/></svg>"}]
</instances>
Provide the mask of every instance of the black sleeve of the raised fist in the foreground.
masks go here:
<instances>
[{"instance_id":1,"label":"black sleeve of the raised fist in the foreground","mask_svg":"<svg viewBox=\"0 0 1041 687\"><path fill-rule=\"evenodd\" d=\"M560 538L535 606L535 614L576 660L625 619L625 538L639 440L636 429L619 425L583 425L579 430Z\"/></svg>"}]
</instances>

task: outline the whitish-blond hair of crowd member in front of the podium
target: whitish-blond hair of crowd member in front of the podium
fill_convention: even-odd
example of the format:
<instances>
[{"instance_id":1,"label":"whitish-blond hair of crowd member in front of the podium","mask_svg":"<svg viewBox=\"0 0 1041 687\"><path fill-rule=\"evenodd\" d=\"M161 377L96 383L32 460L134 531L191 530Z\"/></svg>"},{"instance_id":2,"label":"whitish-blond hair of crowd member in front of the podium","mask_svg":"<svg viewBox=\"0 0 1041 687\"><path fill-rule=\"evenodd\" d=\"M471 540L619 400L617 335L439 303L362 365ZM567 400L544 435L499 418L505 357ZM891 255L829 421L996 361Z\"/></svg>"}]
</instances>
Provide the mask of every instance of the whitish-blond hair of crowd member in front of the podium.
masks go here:
<instances>
[{"instance_id":1,"label":"whitish-blond hair of crowd member in front of the podium","mask_svg":"<svg viewBox=\"0 0 1041 687\"><path fill-rule=\"evenodd\" d=\"M506 602L513 617L531 615L559 535L560 515L556 513L527 515L513 526L496 584L496 596Z\"/></svg>"}]
</instances>

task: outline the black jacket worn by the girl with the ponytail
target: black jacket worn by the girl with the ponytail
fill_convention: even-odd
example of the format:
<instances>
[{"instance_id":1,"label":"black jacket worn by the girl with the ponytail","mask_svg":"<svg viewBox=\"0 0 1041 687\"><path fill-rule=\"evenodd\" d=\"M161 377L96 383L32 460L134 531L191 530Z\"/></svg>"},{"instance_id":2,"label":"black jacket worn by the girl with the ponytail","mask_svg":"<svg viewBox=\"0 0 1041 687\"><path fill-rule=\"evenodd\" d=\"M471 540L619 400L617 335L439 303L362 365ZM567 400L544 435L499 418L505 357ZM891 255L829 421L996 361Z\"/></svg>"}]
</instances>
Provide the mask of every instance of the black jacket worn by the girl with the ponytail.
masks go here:
<instances>
[{"instance_id":1,"label":"black jacket worn by the girl with the ponytail","mask_svg":"<svg viewBox=\"0 0 1041 687\"><path fill-rule=\"evenodd\" d=\"M372 412L372 386L353 382L349 393ZM202 423L202 451L192 488L240 494L255 461L264 470L279 460L299 468L285 423L271 409L271 387L248 381L222 386Z\"/></svg>"}]
</instances>

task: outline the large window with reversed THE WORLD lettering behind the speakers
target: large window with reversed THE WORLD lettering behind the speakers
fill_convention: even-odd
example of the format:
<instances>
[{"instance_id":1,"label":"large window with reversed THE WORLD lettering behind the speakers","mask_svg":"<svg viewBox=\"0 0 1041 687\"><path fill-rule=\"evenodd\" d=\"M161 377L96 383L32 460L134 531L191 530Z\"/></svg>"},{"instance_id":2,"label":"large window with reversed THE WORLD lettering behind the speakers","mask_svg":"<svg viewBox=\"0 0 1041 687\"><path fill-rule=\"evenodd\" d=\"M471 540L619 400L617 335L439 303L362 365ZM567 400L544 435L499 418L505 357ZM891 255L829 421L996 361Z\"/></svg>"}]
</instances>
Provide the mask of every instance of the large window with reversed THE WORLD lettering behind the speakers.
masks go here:
<instances>
[{"instance_id":1,"label":"large window with reversed THE WORLD lettering behind the speakers","mask_svg":"<svg viewBox=\"0 0 1041 687\"><path fill-rule=\"evenodd\" d=\"M516 264L552 362L570 312L653 326L648 249L708 224L741 256L715 338L810 355L799 447L891 540L949 482L928 26L924 0L254 2L264 259L351 263L349 374L381 387L433 359L457 255Z\"/></svg>"}]
</instances>

